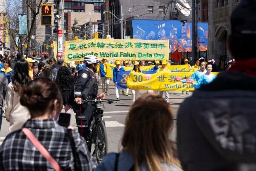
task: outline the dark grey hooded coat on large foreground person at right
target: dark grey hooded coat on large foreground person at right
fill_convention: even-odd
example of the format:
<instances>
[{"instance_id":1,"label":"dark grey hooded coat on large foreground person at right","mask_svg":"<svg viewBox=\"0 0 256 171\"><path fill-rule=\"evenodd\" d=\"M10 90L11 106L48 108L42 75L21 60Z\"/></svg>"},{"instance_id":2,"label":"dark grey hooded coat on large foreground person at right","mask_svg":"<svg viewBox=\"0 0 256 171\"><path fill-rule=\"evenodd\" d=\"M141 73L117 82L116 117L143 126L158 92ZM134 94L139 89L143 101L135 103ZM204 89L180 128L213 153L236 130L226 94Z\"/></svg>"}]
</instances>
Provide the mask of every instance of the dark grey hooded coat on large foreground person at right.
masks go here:
<instances>
[{"instance_id":1,"label":"dark grey hooded coat on large foreground person at right","mask_svg":"<svg viewBox=\"0 0 256 171\"><path fill-rule=\"evenodd\" d=\"M256 77L224 72L196 90L177 115L184 171L256 170Z\"/></svg>"}]
</instances>

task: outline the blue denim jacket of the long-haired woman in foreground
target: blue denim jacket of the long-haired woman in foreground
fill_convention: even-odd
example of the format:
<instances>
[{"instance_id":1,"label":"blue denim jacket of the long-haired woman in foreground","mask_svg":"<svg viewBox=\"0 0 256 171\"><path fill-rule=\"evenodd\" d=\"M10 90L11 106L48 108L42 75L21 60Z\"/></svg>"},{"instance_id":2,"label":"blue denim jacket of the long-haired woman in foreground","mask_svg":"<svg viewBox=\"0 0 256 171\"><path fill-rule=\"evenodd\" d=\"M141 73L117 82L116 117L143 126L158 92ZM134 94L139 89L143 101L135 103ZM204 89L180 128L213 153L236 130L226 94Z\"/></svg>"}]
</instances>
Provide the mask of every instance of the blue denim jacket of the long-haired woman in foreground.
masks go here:
<instances>
[{"instance_id":1,"label":"blue denim jacket of the long-haired woman in foreground","mask_svg":"<svg viewBox=\"0 0 256 171\"><path fill-rule=\"evenodd\" d=\"M104 157L102 162L96 168L96 171L113 171L115 167L116 153L109 153ZM119 155L118 160L118 171L129 171L129 169L134 165L134 159L131 154L122 152ZM172 165L167 165L162 163L163 168L166 171L180 171L177 167ZM140 171L148 171L148 167L145 162L140 165Z\"/></svg>"}]
</instances>

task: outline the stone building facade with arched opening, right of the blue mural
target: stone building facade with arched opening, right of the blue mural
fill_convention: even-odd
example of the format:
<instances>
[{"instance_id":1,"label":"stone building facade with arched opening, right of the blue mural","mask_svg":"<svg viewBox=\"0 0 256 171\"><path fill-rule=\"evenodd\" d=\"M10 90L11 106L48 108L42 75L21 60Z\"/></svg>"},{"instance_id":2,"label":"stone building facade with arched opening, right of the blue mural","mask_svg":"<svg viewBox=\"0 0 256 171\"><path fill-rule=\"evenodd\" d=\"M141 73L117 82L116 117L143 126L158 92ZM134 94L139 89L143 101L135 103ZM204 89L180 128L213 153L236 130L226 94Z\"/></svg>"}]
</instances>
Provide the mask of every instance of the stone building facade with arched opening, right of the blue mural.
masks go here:
<instances>
[{"instance_id":1,"label":"stone building facade with arched opening, right of the blue mural","mask_svg":"<svg viewBox=\"0 0 256 171\"><path fill-rule=\"evenodd\" d=\"M208 58L214 58L217 64L231 58L226 42L230 34L230 16L240 0L209 0L208 13Z\"/></svg>"}]
</instances>

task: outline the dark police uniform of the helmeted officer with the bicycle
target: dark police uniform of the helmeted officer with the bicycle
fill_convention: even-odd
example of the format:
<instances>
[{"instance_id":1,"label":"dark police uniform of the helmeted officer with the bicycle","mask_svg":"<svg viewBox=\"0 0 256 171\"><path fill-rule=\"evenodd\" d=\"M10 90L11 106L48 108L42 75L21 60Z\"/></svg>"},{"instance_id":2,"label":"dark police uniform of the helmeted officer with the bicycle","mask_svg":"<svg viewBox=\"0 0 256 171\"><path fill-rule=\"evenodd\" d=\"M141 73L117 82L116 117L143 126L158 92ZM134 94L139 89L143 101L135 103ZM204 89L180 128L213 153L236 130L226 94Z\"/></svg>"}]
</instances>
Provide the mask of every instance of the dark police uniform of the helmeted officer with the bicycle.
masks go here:
<instances>
[{"instance_id":1,"label":"dark police uniform of the helmeted officer with the bicycle","mask_svg":"<svg viewBox=\"0 0 256 171\"><path fill-rule=\"evenodd\" d=\"M75 98L94 100L98 93L98 81L93 70L84 68L78 71L77 81L75 84ZM90 122L92 119L95 107L92 104L74 104L73 107L76 113L76 125L79 133L86 141L89 141Z\"/></svg>"}]
</instances>

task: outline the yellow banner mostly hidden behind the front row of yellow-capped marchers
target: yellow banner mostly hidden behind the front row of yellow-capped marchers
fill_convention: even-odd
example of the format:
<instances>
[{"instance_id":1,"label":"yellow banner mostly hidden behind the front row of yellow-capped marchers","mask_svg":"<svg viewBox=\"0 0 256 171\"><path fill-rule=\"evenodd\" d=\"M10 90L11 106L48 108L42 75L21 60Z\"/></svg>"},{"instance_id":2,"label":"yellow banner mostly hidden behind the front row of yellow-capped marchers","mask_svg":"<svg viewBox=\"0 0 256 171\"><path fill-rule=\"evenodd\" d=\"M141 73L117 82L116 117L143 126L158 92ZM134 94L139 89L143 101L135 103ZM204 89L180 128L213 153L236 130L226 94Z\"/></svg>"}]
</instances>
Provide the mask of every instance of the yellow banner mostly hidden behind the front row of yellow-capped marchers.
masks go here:
<instances>
[{"instance_id":1,"label":"yellow banner mostly hidden behind the front row of yellow-capped marchers","mask_svg":"<svg viewBox=\"0 0 256 171\"><path fill-rule=\"evenodd\" d=\"M107 77L113 78L113 68L116 67L116 65L113 64L107 64ZM124 66L122 66L124 67ZM151 66L145 66L140 67L140 70L142 71L151 71L151 69L154 67L154 65ZM161 67L161 66L160 66ZM169 65L166 66L169 70L172 72L188 72L189 71L189 65ZM132 71L133 67L124 67L125 71Z\"/></svg>"}]
</instances>

